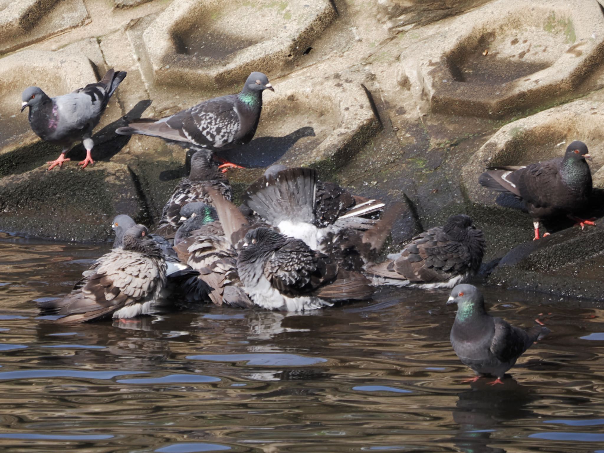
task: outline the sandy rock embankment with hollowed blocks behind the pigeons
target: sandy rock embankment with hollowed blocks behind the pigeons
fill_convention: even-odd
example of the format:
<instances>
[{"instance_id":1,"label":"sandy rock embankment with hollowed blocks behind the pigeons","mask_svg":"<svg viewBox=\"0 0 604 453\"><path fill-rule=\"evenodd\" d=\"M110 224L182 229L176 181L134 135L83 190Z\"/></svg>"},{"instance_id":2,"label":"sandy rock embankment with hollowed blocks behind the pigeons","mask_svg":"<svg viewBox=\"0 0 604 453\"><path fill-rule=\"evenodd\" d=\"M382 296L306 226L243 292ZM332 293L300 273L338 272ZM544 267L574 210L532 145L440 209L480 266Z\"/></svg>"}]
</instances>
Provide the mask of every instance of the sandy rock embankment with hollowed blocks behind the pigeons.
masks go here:
<instances>
[{"instance_id":1,"label":"sandy rock embankment with hollowed blocks behind the pigeons","mask_svg":"<svg viewBox=\"0 0 604 453\"><path fill-rule=\"evenodd\" d=\"M582 140L603 187L602 30L596 0L0 1L0 52L13 52L0 58L0 230L106 240L117 212L151 225L186 173L185 153L113 131L124 115L237 92L253 68L275 93L233 158L312 164L356 193L406 201L392 248L468 213L486 235L485 261L504 257L487 283L604 300L600 225L554 220L553 237L533 243L526 214L476 182L489 162L539 161ZM45 172L60 150L19 114L22 89L56 95L109 68L128 76L95 131L97 165ZM240 193L262 172L229 176Z\"/></svg>"}]
</instances>

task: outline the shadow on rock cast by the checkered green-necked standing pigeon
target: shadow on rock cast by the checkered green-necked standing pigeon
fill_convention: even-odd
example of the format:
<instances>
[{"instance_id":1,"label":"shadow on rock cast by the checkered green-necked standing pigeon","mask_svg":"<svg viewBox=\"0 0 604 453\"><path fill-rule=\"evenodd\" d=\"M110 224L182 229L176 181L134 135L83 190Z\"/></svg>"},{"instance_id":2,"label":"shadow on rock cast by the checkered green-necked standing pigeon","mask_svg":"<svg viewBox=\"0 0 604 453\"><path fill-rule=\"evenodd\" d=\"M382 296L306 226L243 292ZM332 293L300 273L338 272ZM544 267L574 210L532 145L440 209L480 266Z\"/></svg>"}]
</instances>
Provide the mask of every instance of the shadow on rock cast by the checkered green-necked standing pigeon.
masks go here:
<instances>
[{"instance_id":1,"label":"shadow on rock cast by the checkered green-necked standing pigeon","mask_svg":"<svg viewBox=\"0 0 604 453\"><path fill-rule=\"evenodd\" d=\"M234 164L249 168L263 168L277 162L304 137L315 137L315 129L300 127L285 137L259 137L235 149L220 151L218 155Z\"/></svg>"}]
</instances>

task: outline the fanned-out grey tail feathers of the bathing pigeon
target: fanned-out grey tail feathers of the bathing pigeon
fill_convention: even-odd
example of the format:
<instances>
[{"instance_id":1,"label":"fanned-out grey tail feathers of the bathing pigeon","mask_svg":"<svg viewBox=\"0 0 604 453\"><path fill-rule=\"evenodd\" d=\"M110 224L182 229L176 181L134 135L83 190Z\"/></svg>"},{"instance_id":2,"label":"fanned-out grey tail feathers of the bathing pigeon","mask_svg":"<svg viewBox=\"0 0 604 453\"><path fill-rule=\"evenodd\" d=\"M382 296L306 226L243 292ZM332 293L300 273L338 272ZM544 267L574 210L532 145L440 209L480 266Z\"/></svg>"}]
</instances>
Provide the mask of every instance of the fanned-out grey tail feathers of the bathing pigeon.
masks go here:
<instances>
[{"instance_id":1,"label":"fanned-out grey tail feathers of the bathing pigeon","mask_svg":"<svg viewBox=\"0 0 604 453\"><path fill-rule=\"evenodd\" d=\"M313 223L316 181L313 169L281 170L275 177L263 176L250 185L243 201L274 226L284 220Z\"/></svg>"}]
</instances>

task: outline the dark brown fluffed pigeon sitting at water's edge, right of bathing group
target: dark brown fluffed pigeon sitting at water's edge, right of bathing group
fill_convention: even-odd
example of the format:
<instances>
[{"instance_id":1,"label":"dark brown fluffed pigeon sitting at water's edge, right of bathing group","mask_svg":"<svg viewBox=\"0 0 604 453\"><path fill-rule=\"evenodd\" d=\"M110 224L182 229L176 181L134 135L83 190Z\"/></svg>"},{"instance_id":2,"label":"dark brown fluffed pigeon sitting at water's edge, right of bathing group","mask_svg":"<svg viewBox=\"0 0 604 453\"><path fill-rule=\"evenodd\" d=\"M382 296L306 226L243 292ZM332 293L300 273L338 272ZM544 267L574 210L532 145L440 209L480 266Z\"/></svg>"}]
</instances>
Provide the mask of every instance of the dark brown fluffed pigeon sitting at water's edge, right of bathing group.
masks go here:
<instances>
[{"instance_id":1,"label":"dark brown fluffed pigeon sitting at water's edge, right of bathing group","mask_svg":"<svg viewBox=\"0 0 604 453\"><path fill-rule=\"evenodd\" d=\"M367 272L374 284L411 288L453 288L473 277L484 255L483 232L465 214L449 217L445 226L419 234L399 254Z\"/></svg>"}]
</instances>

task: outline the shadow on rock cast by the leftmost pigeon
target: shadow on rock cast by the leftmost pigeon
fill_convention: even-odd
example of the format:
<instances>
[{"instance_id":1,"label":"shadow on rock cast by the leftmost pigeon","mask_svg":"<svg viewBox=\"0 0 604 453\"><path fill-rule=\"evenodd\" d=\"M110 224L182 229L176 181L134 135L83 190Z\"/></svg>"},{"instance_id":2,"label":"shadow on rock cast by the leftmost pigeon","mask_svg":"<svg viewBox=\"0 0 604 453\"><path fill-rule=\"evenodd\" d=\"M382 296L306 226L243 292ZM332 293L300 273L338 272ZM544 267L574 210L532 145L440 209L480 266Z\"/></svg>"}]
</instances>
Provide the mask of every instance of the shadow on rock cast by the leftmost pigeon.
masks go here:
<instances>
[{"instance_id":1,"label":"shadow on rock cast by the leftmost pigeon","mask_svg":"<svg viewBox=\"0 0 604 453\"><path fill-rule=\"evenodd\" d=\"M126 115L103 127L92 136L94 148L92 159L95 161L110 161L113 156L123 149L130 141L131 135L119 135L115 133L118 127L127 126L132 120L138 120L143 112L151 105L150 100L138 101L138 103ZM72 160L81 160L86 157L86 149L82 143L74 146L68 153Z\"/></svg>"}]
</instances>

